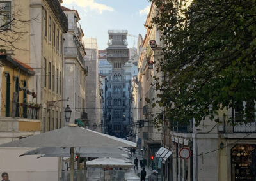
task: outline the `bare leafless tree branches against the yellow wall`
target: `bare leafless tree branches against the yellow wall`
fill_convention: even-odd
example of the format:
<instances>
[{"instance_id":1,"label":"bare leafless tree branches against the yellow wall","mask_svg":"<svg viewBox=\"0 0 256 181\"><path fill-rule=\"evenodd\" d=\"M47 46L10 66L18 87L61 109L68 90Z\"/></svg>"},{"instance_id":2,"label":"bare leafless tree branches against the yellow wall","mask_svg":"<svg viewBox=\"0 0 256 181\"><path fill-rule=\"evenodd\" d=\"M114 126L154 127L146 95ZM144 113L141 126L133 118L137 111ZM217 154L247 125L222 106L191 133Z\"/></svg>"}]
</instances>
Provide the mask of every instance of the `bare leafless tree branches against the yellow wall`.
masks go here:
<instances>
[{"instance_id":1,"label":"bare leafless tree branches against the yellow wall","mask_svg":"<svg viewBox=\"0 0 256 181\"><path fill-rule=\"evenodd\" d=\"M25 33L29 33L26 27L33 19L26 19L19 6L13 6L11 1L0 2L0 52L7 50L25 50L15 43L22 40Z\"/></svg>"}]
</instances>

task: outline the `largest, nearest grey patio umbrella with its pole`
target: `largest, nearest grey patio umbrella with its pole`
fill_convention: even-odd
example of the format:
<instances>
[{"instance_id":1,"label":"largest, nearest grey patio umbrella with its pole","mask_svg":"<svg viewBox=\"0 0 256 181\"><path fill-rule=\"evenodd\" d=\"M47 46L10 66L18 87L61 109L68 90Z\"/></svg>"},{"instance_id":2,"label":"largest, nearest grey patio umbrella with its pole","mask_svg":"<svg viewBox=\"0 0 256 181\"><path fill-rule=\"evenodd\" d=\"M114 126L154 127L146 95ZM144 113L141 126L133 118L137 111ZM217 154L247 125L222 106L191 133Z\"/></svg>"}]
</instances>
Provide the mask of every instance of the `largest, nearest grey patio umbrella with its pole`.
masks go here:
<instances>
[{"instance_id":1,"label":"largest, nearest grey patio umbrella with its pole","mask_svg":"<svg viewBox=\"0 0 256 181\"><path fill-rule=\"evenodd\" d=\"M74 147L136 147L136 143L70 124L61 129L4 143L0 147L69 147L72 181L74 180Z\"/></svg>"}]
</instances>

